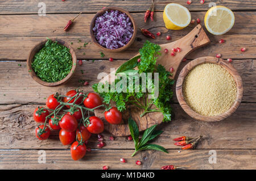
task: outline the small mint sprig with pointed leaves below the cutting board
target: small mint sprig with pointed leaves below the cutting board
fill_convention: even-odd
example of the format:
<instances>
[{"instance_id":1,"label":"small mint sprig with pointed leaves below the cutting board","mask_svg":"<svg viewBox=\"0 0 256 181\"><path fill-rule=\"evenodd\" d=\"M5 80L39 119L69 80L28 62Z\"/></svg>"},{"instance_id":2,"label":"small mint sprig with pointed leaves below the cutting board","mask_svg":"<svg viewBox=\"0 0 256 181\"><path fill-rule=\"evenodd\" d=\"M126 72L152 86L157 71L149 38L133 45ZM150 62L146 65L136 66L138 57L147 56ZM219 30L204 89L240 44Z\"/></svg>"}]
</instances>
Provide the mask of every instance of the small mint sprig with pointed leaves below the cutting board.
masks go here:
<instances>
[{"instance_id":1,"label":"small mint sprig with pointed leaves below the cutting board","mask_svg":"<svg viewBox=\"0 0 256 181\"><path fill-rule=\"evenodd\" d=\"M131 117L129 117L128 124L129 124L131 137L133 137L133 141L135 145L135 151L131 155L131 157L133 157L137 153L137 151L141 151L141 150L159 150L159 151L163 151L164 153L168 153L168 151L165 148L163 148L163 146L155 145L155 144L147 144L148 141L153 140L155 137L163 133L163 131L155 130L157 125L153 125L152 127L147 128L144 131L141 140L139 140L139 128L136 122Z\"/></svg>"}]
</instances>

